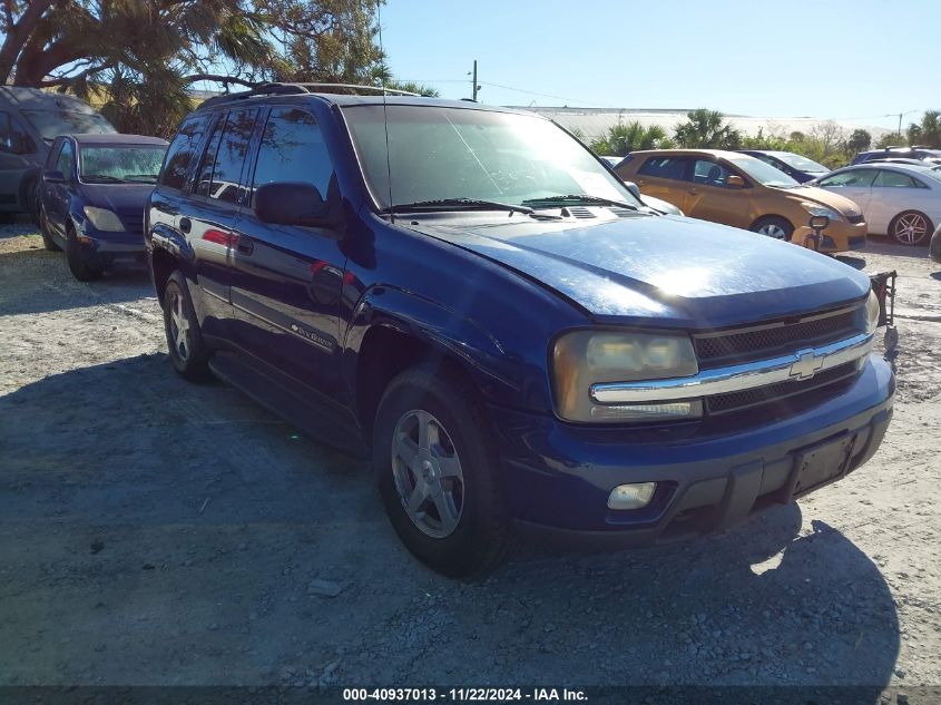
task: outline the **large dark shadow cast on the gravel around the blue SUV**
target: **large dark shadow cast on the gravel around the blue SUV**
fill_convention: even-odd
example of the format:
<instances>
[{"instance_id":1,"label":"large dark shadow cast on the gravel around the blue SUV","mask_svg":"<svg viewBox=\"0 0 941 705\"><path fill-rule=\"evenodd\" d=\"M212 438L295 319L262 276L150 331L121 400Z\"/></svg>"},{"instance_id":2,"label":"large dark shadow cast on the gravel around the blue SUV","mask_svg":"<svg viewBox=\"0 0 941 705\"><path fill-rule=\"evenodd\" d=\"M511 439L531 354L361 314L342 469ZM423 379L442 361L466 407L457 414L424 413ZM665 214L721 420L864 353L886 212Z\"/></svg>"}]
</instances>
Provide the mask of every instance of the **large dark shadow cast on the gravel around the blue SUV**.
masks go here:
<instances>
[{"instance_id":1,"label":"large dark shadow cast on the gravel around the blue SUV","mask_svg":"<svg viewBox=\"0 0 941 705\"><path fill-rule=\"evenodd\" d=\"M0 417L0 684L882 686L899 652L879 568L797 505L467 584L406 554L365 463L163 354Z\"/></svg>"}]
</instances>

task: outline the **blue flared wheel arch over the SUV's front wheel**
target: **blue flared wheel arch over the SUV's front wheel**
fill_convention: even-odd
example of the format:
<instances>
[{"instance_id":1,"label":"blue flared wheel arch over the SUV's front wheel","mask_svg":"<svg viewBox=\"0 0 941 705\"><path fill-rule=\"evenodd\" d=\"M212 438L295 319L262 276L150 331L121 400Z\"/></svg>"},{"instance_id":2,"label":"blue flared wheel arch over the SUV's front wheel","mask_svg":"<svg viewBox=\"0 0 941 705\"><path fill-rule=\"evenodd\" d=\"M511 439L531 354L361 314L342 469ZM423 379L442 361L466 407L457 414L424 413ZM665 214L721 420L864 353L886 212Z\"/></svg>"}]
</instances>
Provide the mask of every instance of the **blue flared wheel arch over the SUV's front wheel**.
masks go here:
<instances>
[{"instance_id":1,"label":"blue flared wheel arch over the SUV's front wheel","mask_svg":"<svg viewBox=\"0 0 941 705\"><path fill-rule=\"evenodd\" d=\"M441 352L464 368L493 401L518 396L522 390L523 362L508 354L481 322L414 292L383 285L360 297L346 331L343 371L351 389L363 340L375 326L393 329Z\"/></svg>"}]
</instances>

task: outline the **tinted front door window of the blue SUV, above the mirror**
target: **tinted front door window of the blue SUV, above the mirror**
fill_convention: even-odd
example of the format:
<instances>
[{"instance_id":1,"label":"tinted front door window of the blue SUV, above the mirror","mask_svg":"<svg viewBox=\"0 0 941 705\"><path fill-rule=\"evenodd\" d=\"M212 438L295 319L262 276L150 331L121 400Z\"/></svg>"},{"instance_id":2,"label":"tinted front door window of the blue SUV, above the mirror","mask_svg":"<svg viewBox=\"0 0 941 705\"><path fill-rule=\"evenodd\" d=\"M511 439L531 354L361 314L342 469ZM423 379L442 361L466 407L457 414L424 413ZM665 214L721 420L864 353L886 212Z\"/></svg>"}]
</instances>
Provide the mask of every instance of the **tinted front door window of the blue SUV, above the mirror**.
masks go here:
<instances>
[{"instance_id":1,"label":"tinted front door window of the blue SUV, above the mirror","mask_svg":"<svg viewBox=\"0 0 941 705\"><path fill-rule=\"evenodd\" d=\"M265 124L254 187L273 182L306 182L326 198L333 164L316 120L296 108L274 108Z\"/></svg>"}]
</instances>

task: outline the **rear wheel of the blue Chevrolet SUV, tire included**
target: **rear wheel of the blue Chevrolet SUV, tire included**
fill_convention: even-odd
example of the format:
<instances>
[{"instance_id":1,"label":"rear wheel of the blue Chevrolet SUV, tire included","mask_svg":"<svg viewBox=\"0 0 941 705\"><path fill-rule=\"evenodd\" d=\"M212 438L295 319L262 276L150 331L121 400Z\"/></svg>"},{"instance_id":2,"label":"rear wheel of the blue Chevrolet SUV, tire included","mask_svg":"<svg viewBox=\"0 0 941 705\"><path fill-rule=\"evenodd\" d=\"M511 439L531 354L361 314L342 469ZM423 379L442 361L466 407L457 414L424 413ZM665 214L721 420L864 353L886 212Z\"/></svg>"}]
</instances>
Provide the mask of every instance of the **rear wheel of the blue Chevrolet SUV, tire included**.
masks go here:
<instances>
[{"instance_id":1,"label":"rear wheel of the blue Chevrolet SUV, tire included","mask_svg":"<svg viewBox=\"0 0 941 705\"><path fill-rule=\"evenodd\" d=\"M179 271L170 274L164 288L164 330L174 369L190 382L209 379L209 353L203 341L186 277Z\"/></svg>"}]
</instances>

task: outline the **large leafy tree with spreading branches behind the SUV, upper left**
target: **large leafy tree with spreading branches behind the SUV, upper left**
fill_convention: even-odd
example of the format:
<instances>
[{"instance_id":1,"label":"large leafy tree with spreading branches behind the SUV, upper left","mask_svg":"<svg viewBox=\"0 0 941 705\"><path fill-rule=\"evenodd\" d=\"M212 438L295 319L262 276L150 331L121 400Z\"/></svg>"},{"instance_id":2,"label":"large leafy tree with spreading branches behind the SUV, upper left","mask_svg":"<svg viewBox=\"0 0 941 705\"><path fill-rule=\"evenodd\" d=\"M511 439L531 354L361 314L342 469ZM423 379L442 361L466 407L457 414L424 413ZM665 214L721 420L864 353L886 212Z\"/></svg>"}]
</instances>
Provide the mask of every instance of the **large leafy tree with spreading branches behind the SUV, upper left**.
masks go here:
<instances>
[{"instance_id":1,"label":"large leafy tree with spreading branches behind the SUV, upper left","mask_svg":"<svg viewBox=\"0 0 941 705\"><path fill-rule=\"evenodd\" d=\"M69 90L124 131L159 135L190 109L197 81L394 86L376 41L381 1L4 0L0 84Z\"/></svg>"}]
</instances>

